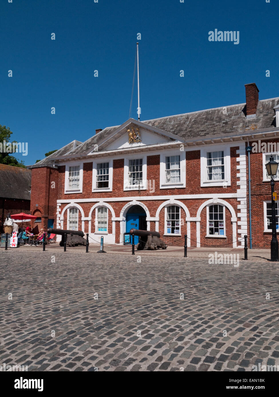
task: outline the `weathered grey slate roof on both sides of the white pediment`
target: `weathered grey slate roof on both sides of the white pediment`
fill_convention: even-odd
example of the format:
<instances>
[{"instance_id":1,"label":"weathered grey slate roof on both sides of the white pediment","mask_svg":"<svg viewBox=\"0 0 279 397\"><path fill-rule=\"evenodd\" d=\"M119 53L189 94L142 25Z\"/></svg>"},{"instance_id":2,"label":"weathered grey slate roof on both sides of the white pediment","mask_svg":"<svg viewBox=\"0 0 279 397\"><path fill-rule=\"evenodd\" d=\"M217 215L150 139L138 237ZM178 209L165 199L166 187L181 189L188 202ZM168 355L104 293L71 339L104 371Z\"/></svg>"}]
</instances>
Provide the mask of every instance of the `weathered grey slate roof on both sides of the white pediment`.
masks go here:
<instances>
[{"instance_id":1,"label":"weathered grey slate roof on both sides of the white pediment","mask_svg":"<svg viewBox=\"0 0 279 397\"><path fill-rule=\"evenodd\" d=\"M151 127L156 127L163 131L178 135L178 137L183 139L203 139L203 137L217 138L218 136L232 134L234 132L236 135L241 135L242 132L248 130L275 128L275 112L273 108L277 104L279 104L279 97L259 100L256 118L250 119L246 119L246 104L242 103L141 122ZM224 108L226 109L225 113ZM78 156L84 154L118 127L119 125L106 127L84 143L80 143L78 147L72 148L69 152L60 152L62 148L51 156L56 157L62 154ZM42 162L44 161L48 162L49 157L41 160L40 163L43 164ZM39 165L40 163L37 164Z\"/></svg>"}]
</instances>

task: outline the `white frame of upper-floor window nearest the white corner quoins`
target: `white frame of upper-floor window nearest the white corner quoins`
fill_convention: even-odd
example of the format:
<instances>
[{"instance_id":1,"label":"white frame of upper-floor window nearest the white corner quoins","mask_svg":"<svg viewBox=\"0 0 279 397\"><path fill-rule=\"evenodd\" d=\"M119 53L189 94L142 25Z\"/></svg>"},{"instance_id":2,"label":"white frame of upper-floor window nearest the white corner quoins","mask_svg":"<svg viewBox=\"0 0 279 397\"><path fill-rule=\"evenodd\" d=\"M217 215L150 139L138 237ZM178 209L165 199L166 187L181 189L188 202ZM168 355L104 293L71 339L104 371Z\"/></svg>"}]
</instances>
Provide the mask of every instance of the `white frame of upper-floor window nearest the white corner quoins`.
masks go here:
<instances>
[{"instance_id":1,"label":"white frame of upper-floor window nearest the white corner quoins","mask_svg":"<svg viewBox=\"0 0 279 397\"><path fill-rule=\"evenodd\" d=\"M207 180L207 153L224 152L224 179ZM230 146L206 146L201 148L201 187L230 186Z\"/></svg>"}]
</instances>

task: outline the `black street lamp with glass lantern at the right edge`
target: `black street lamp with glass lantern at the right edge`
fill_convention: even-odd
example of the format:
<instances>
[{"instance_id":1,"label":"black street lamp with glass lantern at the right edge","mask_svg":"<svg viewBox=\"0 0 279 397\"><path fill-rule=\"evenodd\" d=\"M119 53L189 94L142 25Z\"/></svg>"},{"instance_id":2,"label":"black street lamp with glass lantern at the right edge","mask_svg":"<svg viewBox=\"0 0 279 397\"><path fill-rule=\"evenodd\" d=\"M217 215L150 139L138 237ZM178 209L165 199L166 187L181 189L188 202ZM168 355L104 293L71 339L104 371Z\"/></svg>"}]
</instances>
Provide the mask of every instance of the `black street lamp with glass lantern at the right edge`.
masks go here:
<instances>
[{"instance_id":1,"label":"black street lamp with glass lantern at the right edge","mask_svg":"<svg viewBox=\"0 0 279 397\"><path fill-rule=\"evenodd\" d=\"M270 176L271 181L271 216L272 216L272 239L271 239L271 254L270 259L272 261L278 262L279 261L279 252L278 252L278 240L277 240L277 232L276 232L276 218L275 218L275 201L273 200L273 192L274 192L274 178L277 174L278 164L276 161L273 160L273 156L271 154L270 160L267 164L265 164L268 176Z\"/></svg>"}]
</instances>

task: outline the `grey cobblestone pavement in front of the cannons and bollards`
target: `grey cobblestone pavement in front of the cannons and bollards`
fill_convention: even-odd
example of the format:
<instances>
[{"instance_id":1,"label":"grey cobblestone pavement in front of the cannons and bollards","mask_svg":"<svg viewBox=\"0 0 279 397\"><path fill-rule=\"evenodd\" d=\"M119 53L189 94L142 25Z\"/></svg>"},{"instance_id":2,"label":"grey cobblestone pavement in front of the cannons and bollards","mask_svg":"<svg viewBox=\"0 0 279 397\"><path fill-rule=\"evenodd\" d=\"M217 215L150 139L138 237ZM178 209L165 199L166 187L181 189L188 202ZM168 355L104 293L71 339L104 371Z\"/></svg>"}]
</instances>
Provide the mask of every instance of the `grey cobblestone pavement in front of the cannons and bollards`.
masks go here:
<instances>
[{"instance_id":1,"label":"grey cobblestone pavement in front of the cannons and bollards","mask_svg":"<svg viewBox=\"0 0 279 397\"><path fill-rule=\"evenodd\" d=\"M29 371L279 365L279 264L240 260L234 267L157 253L139 263L137 252L54 258L1 249L0 365Z\"/></svg>"}]
</instances>

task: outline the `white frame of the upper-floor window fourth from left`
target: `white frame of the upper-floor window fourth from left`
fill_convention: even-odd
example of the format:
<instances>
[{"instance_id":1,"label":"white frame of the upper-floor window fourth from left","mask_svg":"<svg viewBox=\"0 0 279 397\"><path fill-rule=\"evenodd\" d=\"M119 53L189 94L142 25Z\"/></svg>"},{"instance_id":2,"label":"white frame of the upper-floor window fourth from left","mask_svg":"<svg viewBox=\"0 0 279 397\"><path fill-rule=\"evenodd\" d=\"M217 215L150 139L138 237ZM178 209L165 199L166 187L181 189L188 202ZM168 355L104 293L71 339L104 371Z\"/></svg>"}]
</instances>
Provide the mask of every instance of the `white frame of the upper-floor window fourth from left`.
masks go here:
<instances>
[{"instance_id":1,"label":"white frame of the upper-floor window fourth from left","mask_svg":"<svg viewBox=\"0 0 279 397\"><path fill-rule=\"evenodd\" d=\"M166 183L166 157L180 156L180 182ZM160 153L160 189L175 189L186 187L186 152L185 150L170 150Z\"/></svg>"}]
</instances>

